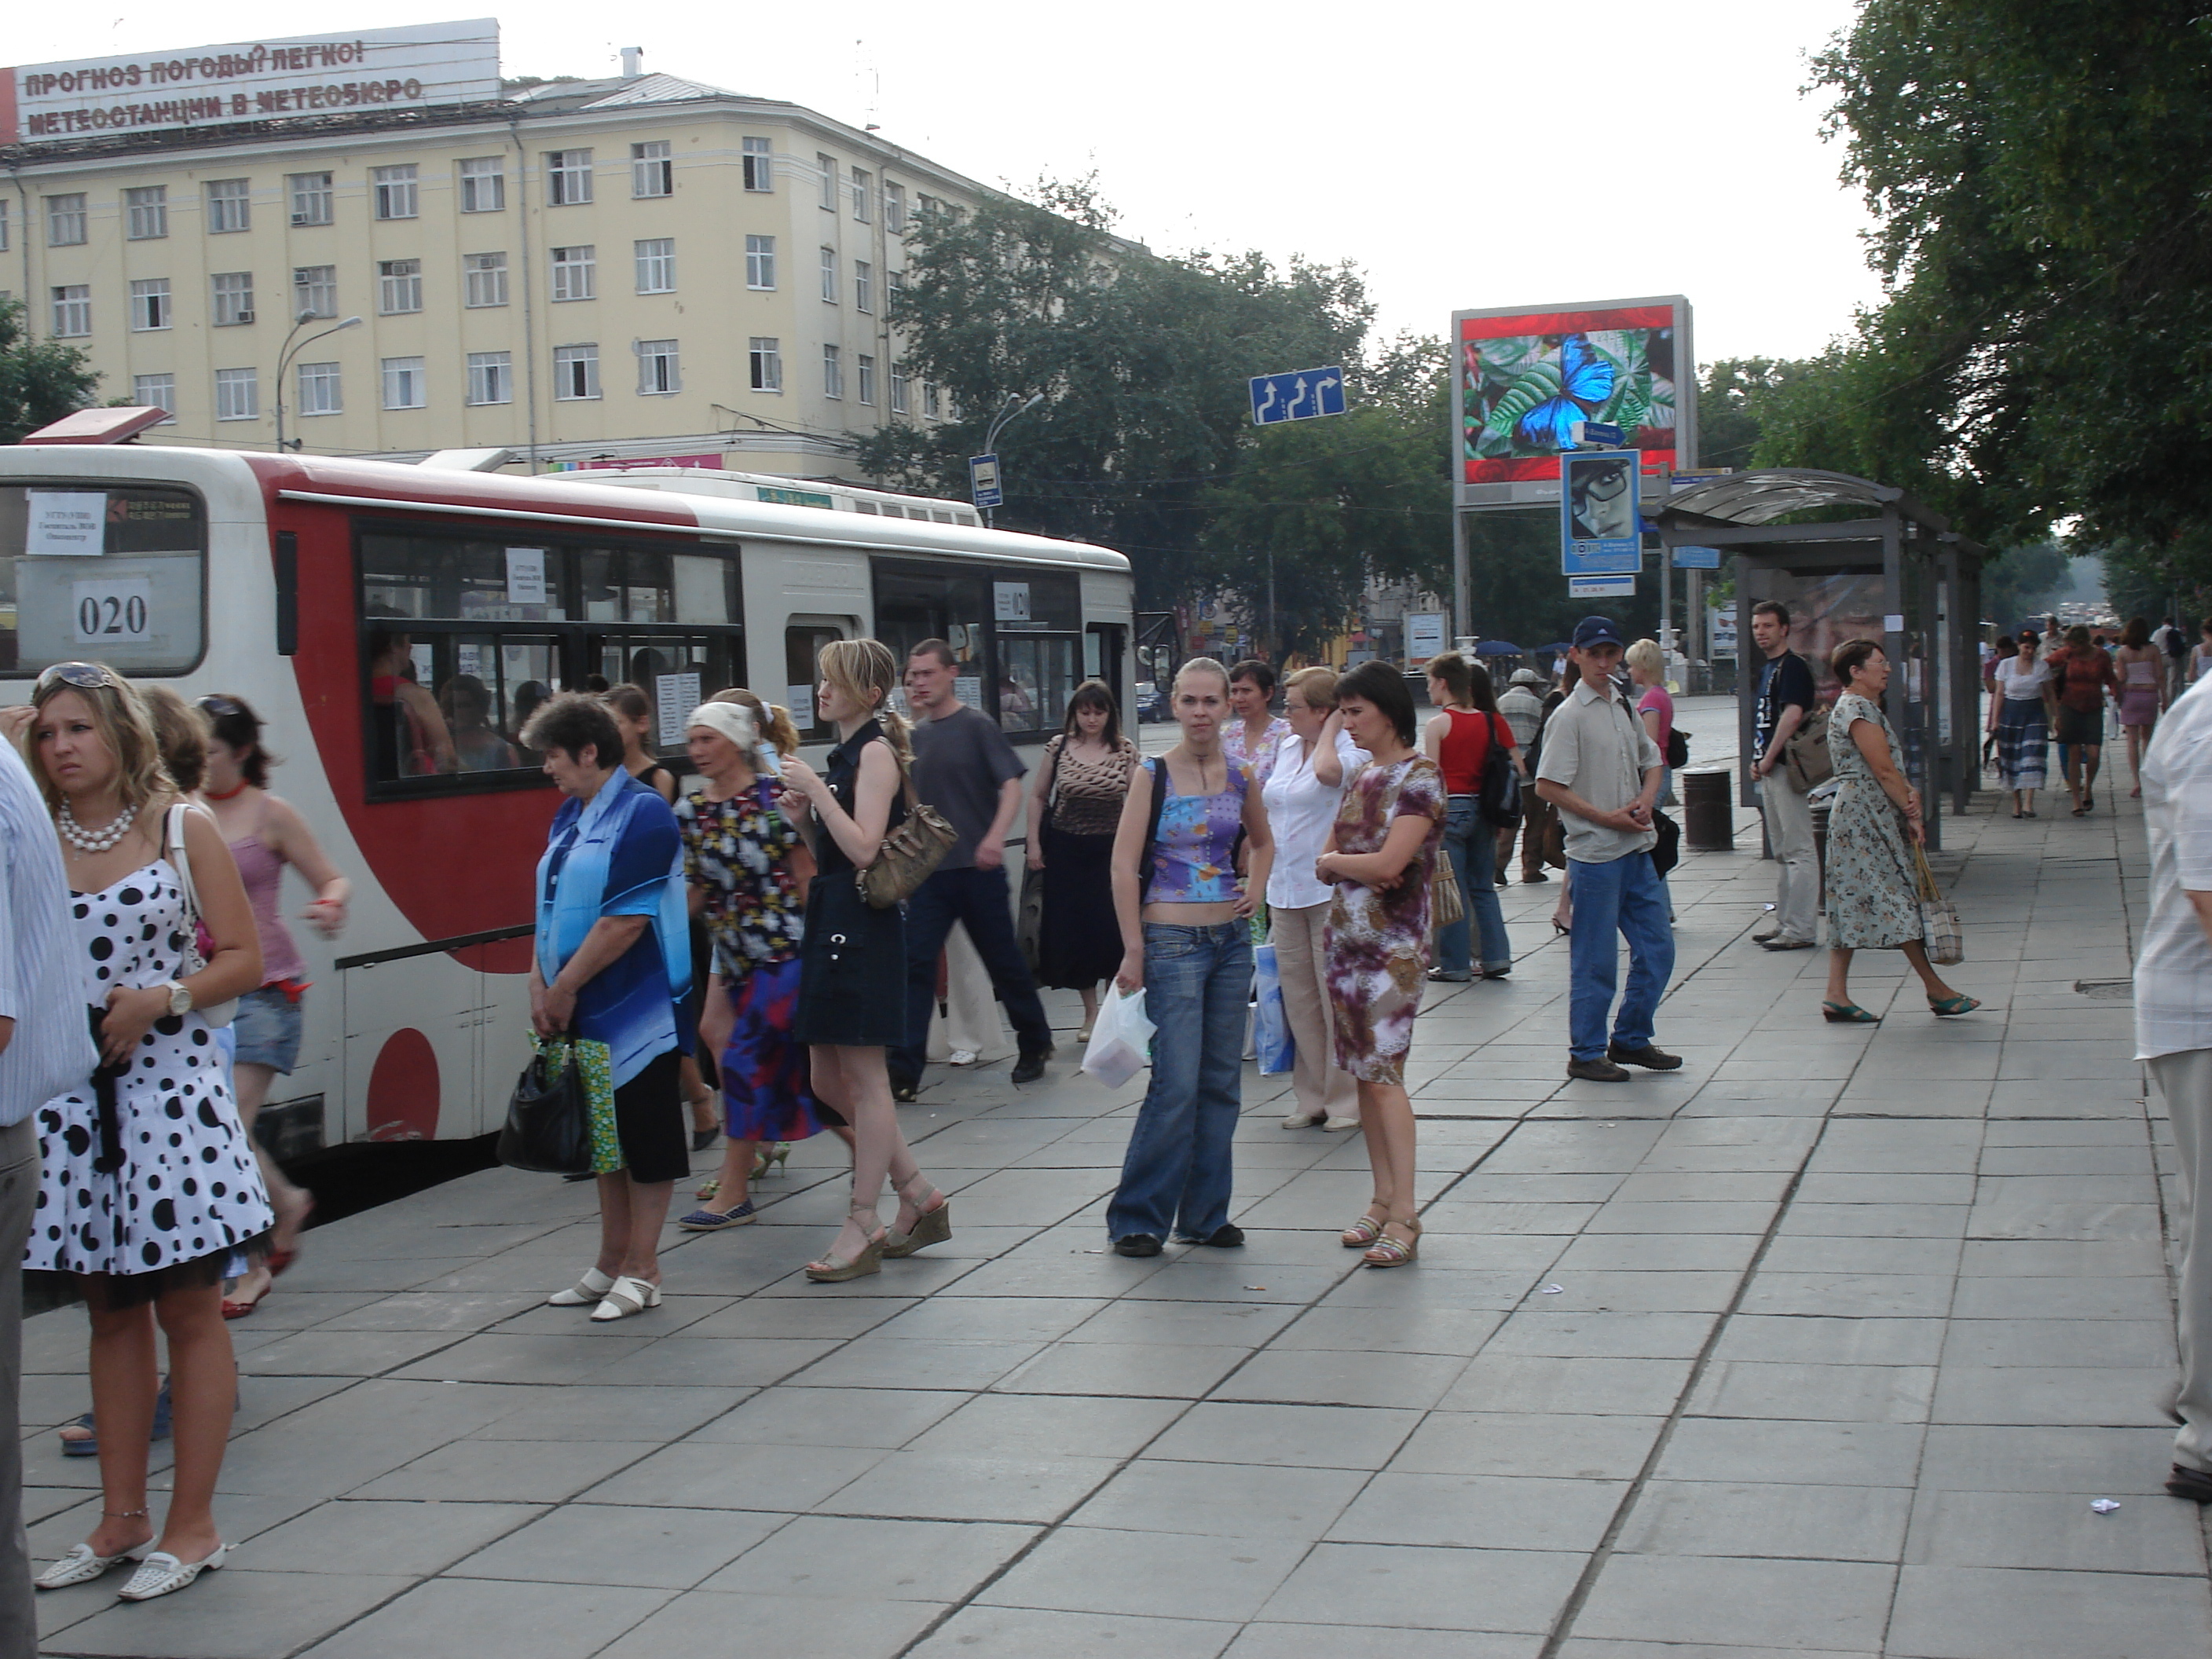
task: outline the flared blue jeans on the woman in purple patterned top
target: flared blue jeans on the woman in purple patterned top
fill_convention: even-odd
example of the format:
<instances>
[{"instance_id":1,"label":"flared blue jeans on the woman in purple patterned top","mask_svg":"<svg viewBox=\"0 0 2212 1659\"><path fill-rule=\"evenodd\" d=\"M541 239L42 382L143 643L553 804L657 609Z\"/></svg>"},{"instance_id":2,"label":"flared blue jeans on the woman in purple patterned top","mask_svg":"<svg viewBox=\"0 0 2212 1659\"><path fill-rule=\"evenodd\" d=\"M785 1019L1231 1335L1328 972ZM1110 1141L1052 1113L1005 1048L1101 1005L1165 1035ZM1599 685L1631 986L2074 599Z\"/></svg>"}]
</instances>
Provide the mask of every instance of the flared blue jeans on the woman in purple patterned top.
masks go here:
<instances>
[{"instance_id":1,"label":"flared blue jeans on the woman in purple patterned top","mask_svg":"<svg viewBox=\"0 0 2212 1659\"><path fill-rule=\"evenodd\" d=\"M1106 1206L1106 1237L1208 1239L1230 1219L1252 925L1144 925L1144 1011L1152 1084Z\"/></svg>"}]
</instances>

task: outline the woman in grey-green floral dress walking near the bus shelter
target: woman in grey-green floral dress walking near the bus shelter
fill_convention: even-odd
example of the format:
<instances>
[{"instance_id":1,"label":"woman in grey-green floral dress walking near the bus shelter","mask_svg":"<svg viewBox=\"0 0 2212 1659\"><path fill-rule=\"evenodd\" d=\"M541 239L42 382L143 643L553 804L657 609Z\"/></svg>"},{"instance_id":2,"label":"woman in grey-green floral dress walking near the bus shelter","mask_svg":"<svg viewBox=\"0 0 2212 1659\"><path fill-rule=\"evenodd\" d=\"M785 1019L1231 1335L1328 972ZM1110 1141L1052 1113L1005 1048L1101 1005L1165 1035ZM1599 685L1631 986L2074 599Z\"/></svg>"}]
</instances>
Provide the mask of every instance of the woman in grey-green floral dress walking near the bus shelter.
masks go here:
<instances>
[{"instance_id":1,"label":"woman in grey-green floral dress walking near the bus shelter","mask_svg":"<svg viewBox=\"0 0 2212 1659\"><path fill-rule=\"evenodd\" d=\"M1920 883L1907 841L1922 845L1920 792L1898 768L1898 734L1882 712L1889 657L1874 639L1847 639L1829 657L1843 692L1827 717L1827 754L1836 796L1827 814L1827 1002L1832 1024L1874 1024L1851 1002L1851 951L1905 951L1920 975L1929 1011L1973 1013L1929 962L1920 931ZM1902 823L1902 830L1900 830Z\"/></svg>"}]
</instances>

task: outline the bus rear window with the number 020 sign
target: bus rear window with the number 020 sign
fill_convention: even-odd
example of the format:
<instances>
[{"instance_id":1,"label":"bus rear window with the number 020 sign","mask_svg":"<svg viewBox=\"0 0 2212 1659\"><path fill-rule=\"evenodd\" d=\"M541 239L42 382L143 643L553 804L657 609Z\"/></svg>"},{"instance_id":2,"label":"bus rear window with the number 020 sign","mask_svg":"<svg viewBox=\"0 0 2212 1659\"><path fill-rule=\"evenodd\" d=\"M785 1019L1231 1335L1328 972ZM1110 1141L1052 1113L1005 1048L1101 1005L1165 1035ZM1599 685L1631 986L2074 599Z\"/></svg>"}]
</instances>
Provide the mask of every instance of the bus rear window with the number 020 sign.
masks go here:
<instances>
[{"instance_id":1,"label":"bus rear window with the number 020 sign","mask_svg":"<svg viewBox=\"0 0 2212 1659\"><path fill-rule=\"evenodd\" d=\"M0 487L0 675L91 657L184 675L204 655L208 526L186 489Z\"/></svg>"}]
</instances>

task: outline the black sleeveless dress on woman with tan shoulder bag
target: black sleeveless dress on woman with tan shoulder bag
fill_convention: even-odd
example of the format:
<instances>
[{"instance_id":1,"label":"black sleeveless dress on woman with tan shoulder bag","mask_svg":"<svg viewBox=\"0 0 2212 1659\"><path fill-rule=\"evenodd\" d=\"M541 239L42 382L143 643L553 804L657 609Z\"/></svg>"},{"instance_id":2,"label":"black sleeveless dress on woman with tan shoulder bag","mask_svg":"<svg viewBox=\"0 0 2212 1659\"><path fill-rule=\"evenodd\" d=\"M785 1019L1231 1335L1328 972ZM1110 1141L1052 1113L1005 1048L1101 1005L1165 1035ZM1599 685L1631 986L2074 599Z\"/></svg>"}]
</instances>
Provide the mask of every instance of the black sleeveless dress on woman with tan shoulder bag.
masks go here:
<instances>
[{"instance_id":1,"label":"black sleeveless dress on woman with tan shoulder bag","mask_svg":"<svg viewBox=\"0 0 2212 1659\"><path fill-rule=\"evenodd\" d=\"M830 750L823 781L852 812L860 750L883 737L869 721ZM885 834L907 816L902 792L891 796ZM894 1048L907 1040L907 914L860 898L852 858L825 830L814 838L814 883L807 887L807 933L799 947L799 1018L794 1042L847 1048Z\"/></svg>"}]
</instances>

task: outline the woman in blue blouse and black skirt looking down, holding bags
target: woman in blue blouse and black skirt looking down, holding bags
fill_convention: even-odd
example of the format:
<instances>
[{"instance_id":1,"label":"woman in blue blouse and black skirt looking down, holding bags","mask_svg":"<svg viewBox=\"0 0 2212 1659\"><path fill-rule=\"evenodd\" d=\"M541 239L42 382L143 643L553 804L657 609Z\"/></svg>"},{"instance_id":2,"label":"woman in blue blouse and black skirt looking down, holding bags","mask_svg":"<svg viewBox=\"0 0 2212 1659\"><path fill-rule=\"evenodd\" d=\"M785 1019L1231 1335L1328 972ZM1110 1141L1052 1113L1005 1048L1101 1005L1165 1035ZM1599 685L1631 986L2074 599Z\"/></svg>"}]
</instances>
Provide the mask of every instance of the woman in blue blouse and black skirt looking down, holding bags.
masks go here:
<instances>
[{"instance_id":1,"label":"woman in blue blouse and black skirt looking down, holding bags","mask_svg":"<svg viewBox=\"0 0 2212 1659\"><path fill-rule=\"evenodd\" d=\"M690 1048L684 843L659 790L624 770L622 732L599 699L546 699L522 743L568 796L538 860L531 1024L606 1044L622 1146L622 1168L599 1172L599 1261L546 1301L628 1318L661 1301L661 1221L690 1175L677 1095Z\"/></svg>"}]
</instances>

